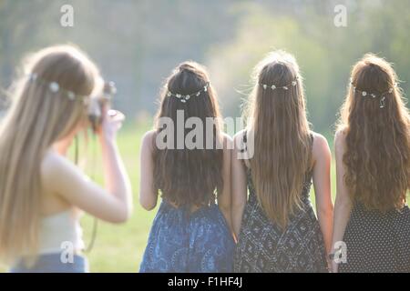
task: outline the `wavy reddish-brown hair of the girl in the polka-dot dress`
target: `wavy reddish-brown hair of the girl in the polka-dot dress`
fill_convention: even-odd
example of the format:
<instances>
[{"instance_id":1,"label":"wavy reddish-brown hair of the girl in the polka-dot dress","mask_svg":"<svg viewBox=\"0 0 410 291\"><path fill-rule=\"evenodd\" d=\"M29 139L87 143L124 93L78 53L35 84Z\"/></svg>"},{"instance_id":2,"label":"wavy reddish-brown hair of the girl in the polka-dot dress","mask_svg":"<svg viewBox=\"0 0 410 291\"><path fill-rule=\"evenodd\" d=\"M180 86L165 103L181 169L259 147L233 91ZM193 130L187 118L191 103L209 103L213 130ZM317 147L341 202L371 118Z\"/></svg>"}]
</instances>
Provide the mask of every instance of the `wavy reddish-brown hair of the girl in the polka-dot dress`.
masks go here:
<instances>
[{"instance_id":1,"label":"wavy reddish-brown hair of the girl in the polka-dot dress","mask_svg":"<svg viewBox=\"0 0 410 291\"><path fill-rule=\"evenodd\" d=\"M344 181L353 201L369 209L400 208L410 183L410 118L395 71L368 54L354 65L351 81L339 125L346 143Z\"/></svg>"}]
</instances>

